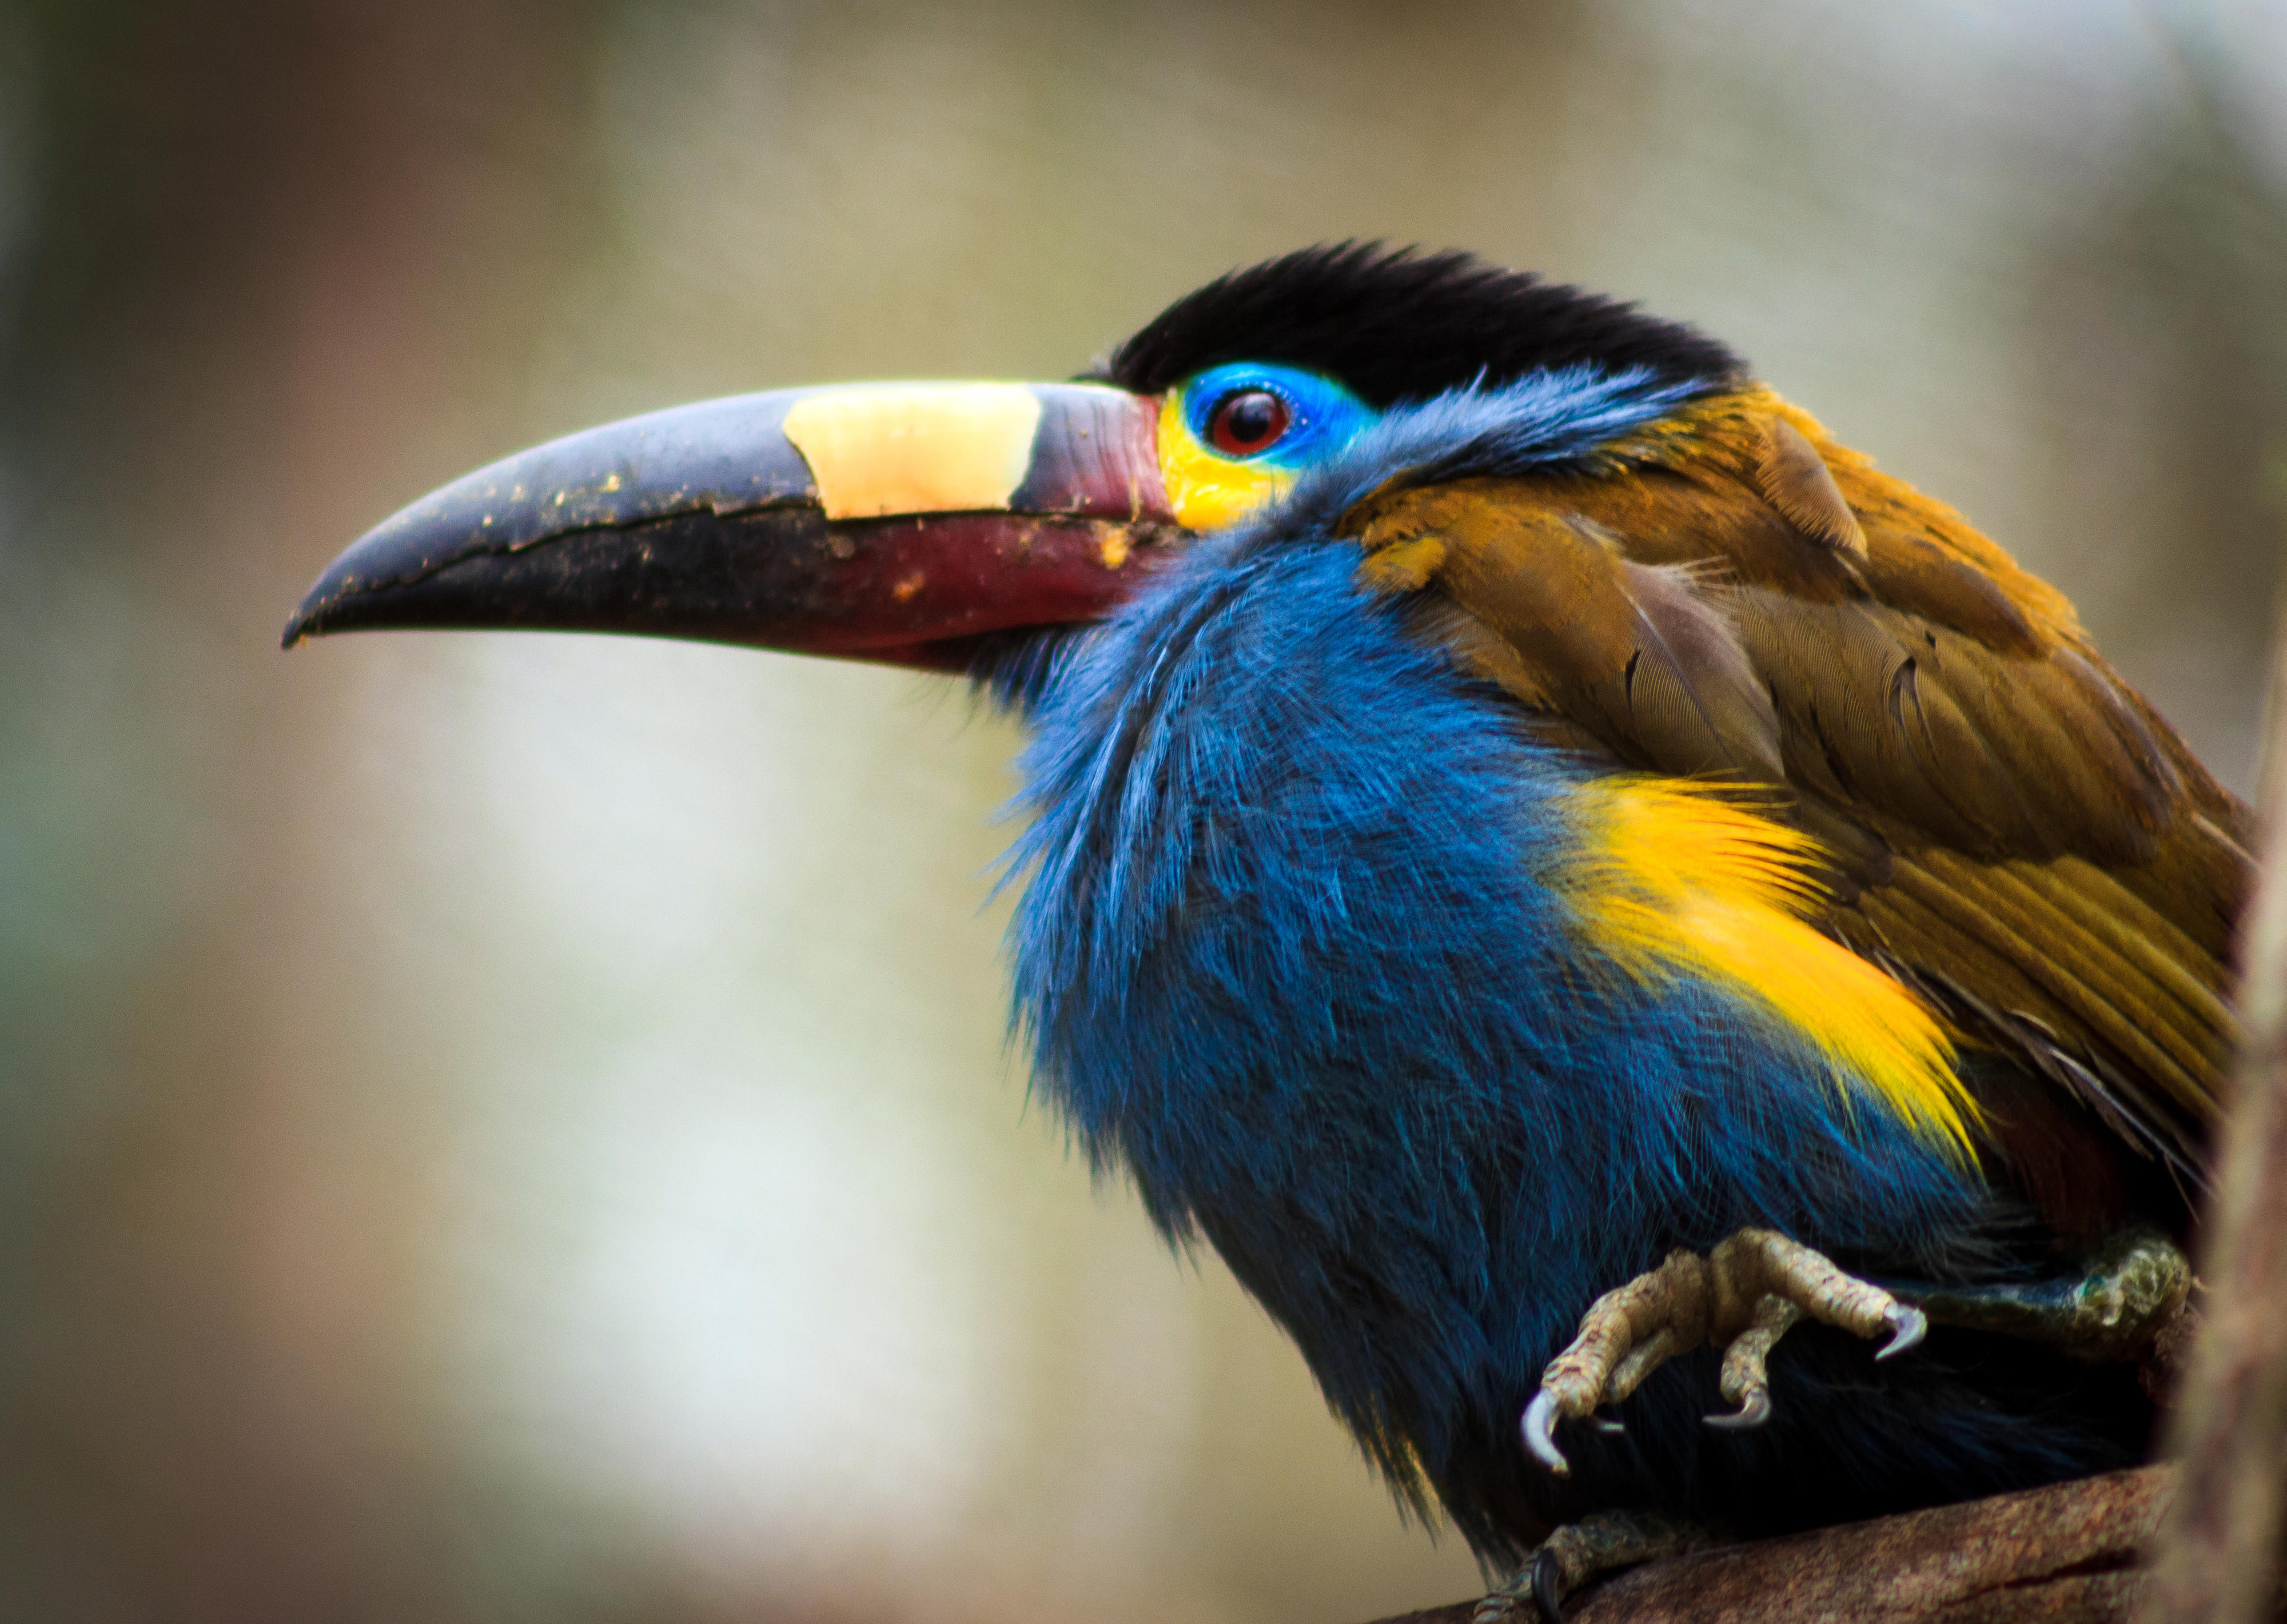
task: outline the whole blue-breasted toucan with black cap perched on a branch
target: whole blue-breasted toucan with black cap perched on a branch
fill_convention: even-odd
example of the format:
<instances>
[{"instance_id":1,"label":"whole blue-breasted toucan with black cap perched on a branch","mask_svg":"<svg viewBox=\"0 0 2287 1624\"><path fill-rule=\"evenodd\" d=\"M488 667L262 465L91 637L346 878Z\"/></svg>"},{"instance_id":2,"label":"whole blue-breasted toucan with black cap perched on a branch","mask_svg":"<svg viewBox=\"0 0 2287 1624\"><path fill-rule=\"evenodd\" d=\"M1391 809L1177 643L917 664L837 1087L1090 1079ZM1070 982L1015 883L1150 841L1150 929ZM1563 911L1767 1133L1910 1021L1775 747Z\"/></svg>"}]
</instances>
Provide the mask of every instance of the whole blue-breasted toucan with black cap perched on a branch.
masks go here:
<instances>
[{"instance_id":1,"label":"whole blue-breasted toucan with black cap perched on a branch","mask_svg":"<svg viewBox=\"0 0 2287 1624\"><path fill-rule=\"evenodd\" d=\"M1034 1086L1514 1574L1493 1613L2150 1446L2248 807L2063 595L1688 325L1313 247L1075 382L512 455L286 643L393 627L1015 711Z\"/></svg>"}]
</instances>

